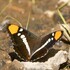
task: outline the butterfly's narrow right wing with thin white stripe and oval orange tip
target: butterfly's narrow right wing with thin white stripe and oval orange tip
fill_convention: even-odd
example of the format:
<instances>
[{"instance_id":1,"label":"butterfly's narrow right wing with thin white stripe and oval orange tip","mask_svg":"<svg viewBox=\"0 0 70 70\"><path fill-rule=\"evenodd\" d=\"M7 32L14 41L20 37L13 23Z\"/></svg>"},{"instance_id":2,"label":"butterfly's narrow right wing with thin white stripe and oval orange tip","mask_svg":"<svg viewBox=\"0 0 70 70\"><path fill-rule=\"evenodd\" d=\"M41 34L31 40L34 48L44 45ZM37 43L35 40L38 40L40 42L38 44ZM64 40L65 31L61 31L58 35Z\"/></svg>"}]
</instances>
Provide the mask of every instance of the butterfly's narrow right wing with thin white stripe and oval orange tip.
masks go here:
<instances>
[{"instance_id":1,"label":"butterfly's narrow right wing with thin white stripe and oval orange tip","mask_svg":"<svg viewBox=\"0 0 70 70\"><path fill-rule=\"evenodd\" d=\"M48 50L61 38L62 31L56 31L45 36L40 43L40 47L32 54L31 61L36 61L47 55Z\"/></svg>"}]
</instances>

